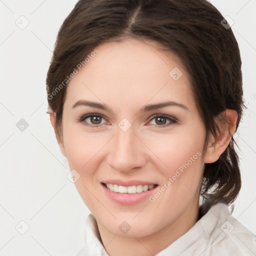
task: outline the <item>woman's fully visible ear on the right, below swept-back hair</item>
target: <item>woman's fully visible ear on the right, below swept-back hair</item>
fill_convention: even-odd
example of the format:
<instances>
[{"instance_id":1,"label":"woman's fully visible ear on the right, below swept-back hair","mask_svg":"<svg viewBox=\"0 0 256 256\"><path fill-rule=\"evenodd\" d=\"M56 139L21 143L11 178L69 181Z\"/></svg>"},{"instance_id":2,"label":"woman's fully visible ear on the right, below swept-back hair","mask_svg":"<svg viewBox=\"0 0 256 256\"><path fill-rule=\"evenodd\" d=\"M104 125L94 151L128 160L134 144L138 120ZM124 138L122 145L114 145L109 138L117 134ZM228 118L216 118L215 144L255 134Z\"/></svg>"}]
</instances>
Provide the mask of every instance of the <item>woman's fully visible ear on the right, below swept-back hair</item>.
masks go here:
<instances>
[{"instance_id":1,"label":"woman's fully visible ear on the right, below swept-back hair","mask_svg":"<svg viewBox=\"0 0 256 256\"><path fill-rule=\"evenodd\" d=\"M221 115L224 115L224 118L226 118L225 127L218 122L220 132L217 134L217 138L214 138L214 136L211 134L204 157L205 163L215 162L219 158L219 156L228 146L232 135L235 132L237 112L235 110L226 109L224 112L220 113L220 118Z\"/></svg>"}]
</instances>

